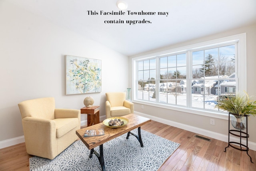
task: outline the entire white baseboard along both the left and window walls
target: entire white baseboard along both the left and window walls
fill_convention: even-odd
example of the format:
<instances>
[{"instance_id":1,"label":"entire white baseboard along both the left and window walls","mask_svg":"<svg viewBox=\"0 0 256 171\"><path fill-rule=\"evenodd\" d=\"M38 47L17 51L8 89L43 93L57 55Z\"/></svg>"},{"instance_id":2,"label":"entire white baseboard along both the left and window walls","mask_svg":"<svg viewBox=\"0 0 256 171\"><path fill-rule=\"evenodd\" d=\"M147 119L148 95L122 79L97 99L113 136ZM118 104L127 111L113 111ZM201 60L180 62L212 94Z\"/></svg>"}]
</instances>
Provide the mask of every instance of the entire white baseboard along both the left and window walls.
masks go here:
<instances>
[{"instance_id":1,"label":"entire white baseboard along both the left and window walls","mask_svg":"<svg viewBox=\"0 0 256 171\"><path fill-rule=\"evenodd\" d=\"M213 131L208 131L206 129L201 129L201 128L198 128L198 127L192 127L190 125L185 125L185 124L182 124L182 123L170 121L168 119L162 119L160 117L147 115L145 113L140 113L140 112L136 112L136 111L134 111L134 113L136 115L148 117L148 118L152 119L153 121L158 121L158 122L164 123L166 125L170 125L170 126L173 126L173 127L184 129L186 131L191 131L191 132L194 132L194 133L198 133L200 135L204 135L204 136L207 136L207 137L218 139L220 141L228 142L228 135L216 133L216 132L213 132ZM104 120L104 119L106 119L106 116L100 116L101 121ZM81 121L81 126L84 126L84 125L87 125L87 120ZM235 137L230 137L230 141L240 142L240 139L235 138ZM25 142L24 136L20 136L20 137L0 141L0 149L5 148L5 147L9 147L9 146L12 146L12 145L16 145L16 144L19 144L19 143L24 143L24 142ZM242 140L242 143L246 144L246 141ZM248 147L249 147L249 149L252 149L252 150L256 151L256 143L248 141Z\"/></svg>"}]
</instances>

